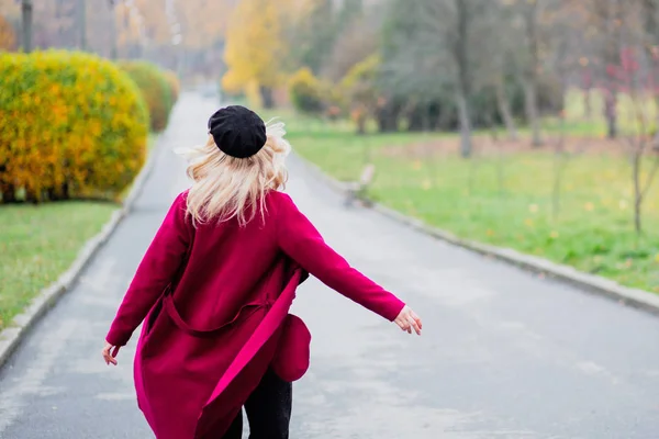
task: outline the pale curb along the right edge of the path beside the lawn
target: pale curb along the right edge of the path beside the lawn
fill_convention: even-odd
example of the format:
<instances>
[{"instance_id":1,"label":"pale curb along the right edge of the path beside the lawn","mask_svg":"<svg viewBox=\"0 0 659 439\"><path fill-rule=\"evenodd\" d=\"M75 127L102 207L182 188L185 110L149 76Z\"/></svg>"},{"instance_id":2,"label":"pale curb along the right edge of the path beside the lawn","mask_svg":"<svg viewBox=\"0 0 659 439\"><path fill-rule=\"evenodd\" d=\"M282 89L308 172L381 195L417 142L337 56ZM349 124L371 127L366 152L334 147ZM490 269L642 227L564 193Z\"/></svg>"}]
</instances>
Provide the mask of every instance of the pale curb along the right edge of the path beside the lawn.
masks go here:
<instances>
[{"instance_id":1,"label":"pale curb along the right edge of the path beside the lawn","mask_svg":"<svg viewBox=\"0 0 659 439\"><path fill-rule=\"evenodd\" d=\"M295 157L316 177L324 180L332 189L340 194L346 194L342 182L326 175L321 168L311 161L295 155ZM617 301L622 305L628 305L635 308L659 315L659 294L649 291L633 289L621 285L600 275L581 272L572 267L551 262L547 259L536 256L524 255L511 248L490 246L487 244L474 243L468 239L461 239L451 233L428 226L421 219L403 215L390 207L371 200L366 201L366 206L395 221L399 224L411 227L436 239L443 240L454 246L458 246L473 252L493 257L510 264L520 267L526 271L540 273L549 278L557 279L565 283L578 286L587 292L602 295Z\"/></svg>"}]
</instances>

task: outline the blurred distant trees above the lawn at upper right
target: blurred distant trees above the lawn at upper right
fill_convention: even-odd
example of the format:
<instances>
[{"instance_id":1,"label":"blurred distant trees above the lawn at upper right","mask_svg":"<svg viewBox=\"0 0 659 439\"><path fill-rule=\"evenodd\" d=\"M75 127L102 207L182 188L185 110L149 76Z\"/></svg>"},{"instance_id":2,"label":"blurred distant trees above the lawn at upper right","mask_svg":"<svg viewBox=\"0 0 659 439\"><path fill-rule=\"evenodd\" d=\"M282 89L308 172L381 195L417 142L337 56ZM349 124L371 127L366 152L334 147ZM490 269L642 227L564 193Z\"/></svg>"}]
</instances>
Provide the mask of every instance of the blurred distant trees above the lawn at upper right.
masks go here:
<instances>
[{"instance_id":1,"label":"blurred distant trees above the lawn at upper right","mask_svg":"<svg viewBox=\"0 0 659 439\"><path fill-rule=\"evenodd\" d=\"M526 124L533 145L544 145L543 117L559 114L574 87L584 90L589 114L591 91L601 93L607 136L619 136L612 66L629 47L644 59L659 50L659 0L286 0L278 14L258 4L237 1L231 20L241 25L226 33L230 88L280 88L308 68L343 93L326 93L314 111L339 106L348 115L358 106L380 131L456 130L465 157L472 131L491 124L509 138ZM261 18L238 20L250 5ZM354 90L339 85L376 58L358 81L369 105L356 105ZM659 77L652 81L646 90Z\"/></svg>"}]
</instances>

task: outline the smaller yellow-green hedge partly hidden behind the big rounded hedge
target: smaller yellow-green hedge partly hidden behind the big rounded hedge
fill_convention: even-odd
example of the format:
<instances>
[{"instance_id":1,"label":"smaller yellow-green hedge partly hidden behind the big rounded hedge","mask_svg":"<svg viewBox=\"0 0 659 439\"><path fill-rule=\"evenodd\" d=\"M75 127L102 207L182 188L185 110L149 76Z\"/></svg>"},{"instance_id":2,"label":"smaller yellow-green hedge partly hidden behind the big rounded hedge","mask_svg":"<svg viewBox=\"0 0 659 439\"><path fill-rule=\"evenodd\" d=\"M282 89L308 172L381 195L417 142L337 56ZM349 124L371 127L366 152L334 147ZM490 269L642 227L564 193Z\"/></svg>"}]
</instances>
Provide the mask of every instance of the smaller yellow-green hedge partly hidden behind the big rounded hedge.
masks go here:
<instances>
[{"instance_id":1,"label":"smaller yellow-green hedge partly hidden behind the big rounded hedge","mask_svg":"<svg viewBox=\"0 0 659 439\"><path fill-rule=\"evenodd\" d=\"M158 67L146 61L120 61L120 67L135 81L150 114L152 131L164 131L174 106L171 87Z\"/></svg>"}]
</instances>

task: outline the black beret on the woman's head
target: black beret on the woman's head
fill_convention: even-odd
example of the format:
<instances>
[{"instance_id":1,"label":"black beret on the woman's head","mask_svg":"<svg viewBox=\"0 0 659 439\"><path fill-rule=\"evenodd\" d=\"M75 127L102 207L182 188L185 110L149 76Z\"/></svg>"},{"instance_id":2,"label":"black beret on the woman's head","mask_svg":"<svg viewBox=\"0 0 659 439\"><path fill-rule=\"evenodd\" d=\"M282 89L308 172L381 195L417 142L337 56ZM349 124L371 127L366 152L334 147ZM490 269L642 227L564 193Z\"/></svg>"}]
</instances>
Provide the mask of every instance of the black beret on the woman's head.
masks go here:
<instances>
[{"instance_id":1,"label":"black beret on the woman's head","mask_svg":"<svg viewBox=\"0 0 659 439\"><path fill-rule=\"evenodd\" d=\"M224 154L247 158L266 145L266 124L252 110L230 105L217 110L209 120L209 133Z\"/></svg>"}]
</instances>

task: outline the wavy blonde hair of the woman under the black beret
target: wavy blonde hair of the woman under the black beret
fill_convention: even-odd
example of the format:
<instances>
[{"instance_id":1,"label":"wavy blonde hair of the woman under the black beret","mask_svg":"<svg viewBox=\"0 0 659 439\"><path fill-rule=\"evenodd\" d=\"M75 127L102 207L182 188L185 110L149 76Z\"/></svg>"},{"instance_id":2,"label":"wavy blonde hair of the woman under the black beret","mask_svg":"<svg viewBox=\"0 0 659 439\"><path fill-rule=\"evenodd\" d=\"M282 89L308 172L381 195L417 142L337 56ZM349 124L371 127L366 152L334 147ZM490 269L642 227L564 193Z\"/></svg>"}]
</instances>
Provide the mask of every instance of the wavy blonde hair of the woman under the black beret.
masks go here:
<instances>
[{"instance_id":1,"label":"wavy blonde hair of the woman under the black beret","mask_svg":"<svg viewBox=\"0 0 659 439\"><path fill-rule=\"evenodd\" d=\"M268 122L266 134L266 145L248 158L222 153L211 135L203 146L179 150L188 159L187 173L193 181L187 214L196 226L232 218L245 226L257 213L265 218L265 195L286 185L284 158L291 149L283 139L282 122Z\"/></svg>"}]
</instances>

